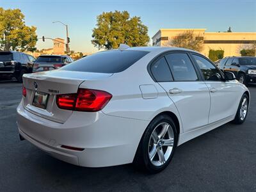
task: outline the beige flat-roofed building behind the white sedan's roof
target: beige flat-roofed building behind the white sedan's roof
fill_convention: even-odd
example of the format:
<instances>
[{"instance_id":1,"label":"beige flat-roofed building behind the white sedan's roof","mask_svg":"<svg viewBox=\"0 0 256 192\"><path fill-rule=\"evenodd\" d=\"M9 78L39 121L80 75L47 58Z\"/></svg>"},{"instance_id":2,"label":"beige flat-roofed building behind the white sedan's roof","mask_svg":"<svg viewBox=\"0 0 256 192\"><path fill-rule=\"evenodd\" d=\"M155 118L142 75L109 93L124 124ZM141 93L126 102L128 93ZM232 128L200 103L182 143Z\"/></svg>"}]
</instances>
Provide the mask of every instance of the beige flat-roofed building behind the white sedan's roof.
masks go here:
<instances>
[{"instance_id":1,"label":"beige flat-roofed building behind the white sedan's roof","mask_svg":"<svg viewBox=\"0 0 256 192\"><path fill-rule=\"evenodd\" d=\"M204 49L201 51L209 56L210 49L224 50L224 56L241 56L241 49L256 44L256 32L205 32L206 29L159 29L152 37L154 46L166 46L168 41L188 30L193 30L196 38L204 40Z\"/></svg>"}]
</instances>

